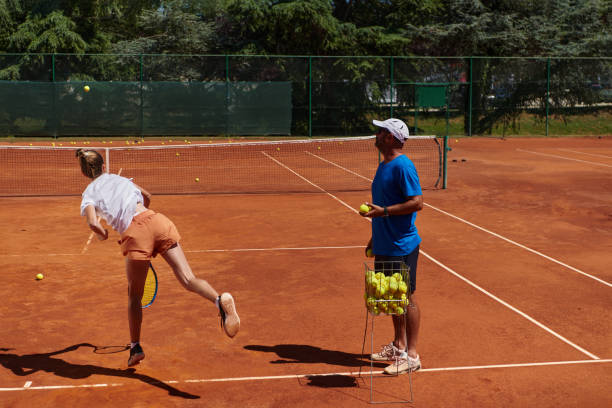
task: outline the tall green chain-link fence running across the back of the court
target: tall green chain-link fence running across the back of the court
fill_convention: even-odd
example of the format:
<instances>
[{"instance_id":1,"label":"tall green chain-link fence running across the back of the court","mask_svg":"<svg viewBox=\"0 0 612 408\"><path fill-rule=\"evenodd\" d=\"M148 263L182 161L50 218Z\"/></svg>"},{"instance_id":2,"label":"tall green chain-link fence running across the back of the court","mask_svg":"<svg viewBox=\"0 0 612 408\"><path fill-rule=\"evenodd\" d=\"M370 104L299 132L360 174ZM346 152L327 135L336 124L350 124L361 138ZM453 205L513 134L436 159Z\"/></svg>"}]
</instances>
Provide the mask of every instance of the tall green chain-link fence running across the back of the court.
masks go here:
<instances>
[{"instance_id":1,"label":"tall green chain-link fence running across the back of the court","mask_svg":"<svg viewBox=\"0 0 612 408\"><path fill-rule=\"evenodd\" d=\"M2 135L612 134L612 58L0 54L0 78Z\"/></svg>"}]
</instances>

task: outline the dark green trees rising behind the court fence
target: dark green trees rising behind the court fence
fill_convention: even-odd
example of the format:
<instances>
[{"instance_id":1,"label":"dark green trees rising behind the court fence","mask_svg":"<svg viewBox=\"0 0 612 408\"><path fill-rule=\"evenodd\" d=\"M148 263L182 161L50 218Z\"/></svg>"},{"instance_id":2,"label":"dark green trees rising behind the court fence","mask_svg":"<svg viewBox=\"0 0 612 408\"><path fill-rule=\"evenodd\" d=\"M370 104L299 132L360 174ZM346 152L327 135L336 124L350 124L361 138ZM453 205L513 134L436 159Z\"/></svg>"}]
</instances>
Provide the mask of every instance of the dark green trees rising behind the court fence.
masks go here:
<instances>
[{"instance_id":1,"label":"dark green trees rising behind the court fence","mask_svg":"<svg viewBox=\"0 0 612 408\"><path fill-rule=\"evenodd\" d=\"M472 132L487 133L517 123L527 108L544 115L547 102L561 117L562 107L599 103L610 63L554 58L611 55L611 16L610 0L0 0L0 80L225 80L223 57L199 55L257 54L264 57L233 59L231 80L292 81L303 126L307 60L265 56L543 57L472 61L471 99L463 87L454 105L466 115L474 109ZM52 65L52 53L70 55ZM98 53L122 55L85 56ZM548 100L544 57L553 58ZM388 109L385 61L319 59L313 117L353 131ZM454 82L468 72L468 60L431 61L397 63L396 81ZM409 109L414 90L399 86L396 96L398 109Z\"/></svg>"}]
</instances>

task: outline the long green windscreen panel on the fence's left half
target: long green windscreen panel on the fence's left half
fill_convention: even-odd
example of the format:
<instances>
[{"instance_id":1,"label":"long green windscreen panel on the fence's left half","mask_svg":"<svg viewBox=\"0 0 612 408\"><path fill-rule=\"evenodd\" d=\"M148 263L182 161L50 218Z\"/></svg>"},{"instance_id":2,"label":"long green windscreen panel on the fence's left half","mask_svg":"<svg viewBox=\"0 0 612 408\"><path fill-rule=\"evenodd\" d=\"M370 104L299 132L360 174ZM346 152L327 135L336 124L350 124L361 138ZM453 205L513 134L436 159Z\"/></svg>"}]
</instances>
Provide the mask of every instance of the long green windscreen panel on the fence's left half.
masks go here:
<instances>
[{"instance_id":1,"label":"long green windscreen panel on the fence's left half","mask_svg":"<svg viewBox=\"0 0 612 408\"><path fill-rule=\"evenodd\" d=\"M90 87L85 92L84 86ZM290 82L0 81L15 135L288 135Z\"/></svg>"}]
</instances>

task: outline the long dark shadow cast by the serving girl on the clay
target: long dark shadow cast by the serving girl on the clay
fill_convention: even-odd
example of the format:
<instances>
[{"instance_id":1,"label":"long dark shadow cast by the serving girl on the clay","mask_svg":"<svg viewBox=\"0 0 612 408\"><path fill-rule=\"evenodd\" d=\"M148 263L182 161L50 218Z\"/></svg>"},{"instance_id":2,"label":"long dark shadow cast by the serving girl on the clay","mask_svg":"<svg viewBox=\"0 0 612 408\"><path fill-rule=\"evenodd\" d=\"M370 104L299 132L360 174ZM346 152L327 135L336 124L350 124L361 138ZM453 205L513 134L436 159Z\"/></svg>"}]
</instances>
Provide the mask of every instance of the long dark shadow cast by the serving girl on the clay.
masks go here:
<instances>
[{"instance_id":1,"label":"long dark shadow cast by the serving girl on the clay","mask_svg":"<svg viewBox=\"0 0 612 408\"><path fill-rule=\"evenodd\" d=\"M154 387L161 388L167 391L169 395L174 397L182 397L187 399L200 398L199 395L189 394L187 392L171 387L163 381L157 380L148 375L139 374L133 368L123 370L116 368L100 367L91 364L73 364L64 361L60 358L53 357L58 354L74 351L79 347L91 347L93 350L97 349L97 347L92 344L80 343L66 347L62 350L52 351L50 353L24 355L0 353L0 364L5 368L11 370L13 374L19 376L27 376L38 371L46 371L48 373L52 373L60 377L72 379L82 379L90 377L92 375L107 375L111 377L122 377L139 380ZM0 351L10 350L11 349L0 348Z\"/></svg>"}]
</instances>

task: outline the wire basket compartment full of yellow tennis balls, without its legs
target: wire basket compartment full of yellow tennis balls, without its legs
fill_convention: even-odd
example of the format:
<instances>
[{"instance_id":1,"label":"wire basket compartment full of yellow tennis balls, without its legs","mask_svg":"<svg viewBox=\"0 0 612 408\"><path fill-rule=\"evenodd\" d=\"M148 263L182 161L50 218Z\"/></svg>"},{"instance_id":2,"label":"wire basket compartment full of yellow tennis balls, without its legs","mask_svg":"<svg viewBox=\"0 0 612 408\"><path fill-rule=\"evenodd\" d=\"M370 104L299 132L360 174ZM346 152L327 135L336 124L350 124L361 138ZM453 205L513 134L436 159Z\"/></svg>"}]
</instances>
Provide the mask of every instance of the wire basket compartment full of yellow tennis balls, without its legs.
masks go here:
<instances>
[{"instance_id":1,"label":"wire basket compartment full of yellow tennis balls, without its legs","mask_svg":"<svg viewBox=\"0 0 612 408\"><path fill-rule=\"evenodd\" d=\"M365 305L373 315L403 315L410 305L410 269L401 261L365 264Z\"/></svg>"}]
</instances>

